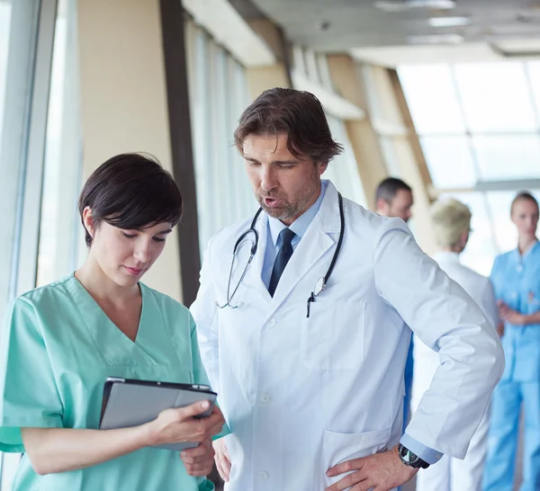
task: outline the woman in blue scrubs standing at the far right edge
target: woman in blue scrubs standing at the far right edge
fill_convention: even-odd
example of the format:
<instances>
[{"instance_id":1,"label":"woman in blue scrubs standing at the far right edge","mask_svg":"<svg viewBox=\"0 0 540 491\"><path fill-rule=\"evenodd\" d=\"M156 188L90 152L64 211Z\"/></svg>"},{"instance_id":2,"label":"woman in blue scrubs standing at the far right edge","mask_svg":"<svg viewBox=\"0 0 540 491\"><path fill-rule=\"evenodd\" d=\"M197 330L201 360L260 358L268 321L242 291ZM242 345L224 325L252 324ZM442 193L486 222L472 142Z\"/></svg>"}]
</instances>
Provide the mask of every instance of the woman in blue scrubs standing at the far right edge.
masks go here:
<instances>
[{"instance_id":1,"label":"woman in blue scrubs standing at the far right edge","mask_svg":"<svg viewBox=\"0 0 540 491\"><path fill-rule=\"evenodd\" d=\"M518 450L519 413L525 411L523 482L540 489L540 244L538 203L527 192L512 202L518 248L495 259L491 281L504 322L506 369L495 388L484 491L511 491Z\"/></svg>"}]
</instances>

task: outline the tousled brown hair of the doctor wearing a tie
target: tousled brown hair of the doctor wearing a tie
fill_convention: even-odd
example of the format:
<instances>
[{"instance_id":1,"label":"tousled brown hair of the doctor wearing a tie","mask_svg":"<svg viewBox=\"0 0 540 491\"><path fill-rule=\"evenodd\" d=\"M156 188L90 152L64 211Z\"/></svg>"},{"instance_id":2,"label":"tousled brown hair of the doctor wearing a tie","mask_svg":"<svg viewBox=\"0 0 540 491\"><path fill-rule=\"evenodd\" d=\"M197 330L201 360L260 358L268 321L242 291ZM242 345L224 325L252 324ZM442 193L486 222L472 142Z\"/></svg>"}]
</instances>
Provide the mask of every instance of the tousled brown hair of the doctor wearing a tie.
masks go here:
<instances>
[{"instance_id":1,"label":"tousled brown hair of the doctor wearing a tie","mask_svg":"<svg viewBox=\"0 0 540 491\"><path fill-rule=\"evenodd\" d=\"M332 138L322 105L309 92L274 88L260 94L242 113L234 132L235 145L244 154L249 135L287 135L287 149L297 158L328 164L343 152Z\"/></svg>"}]
</instances>

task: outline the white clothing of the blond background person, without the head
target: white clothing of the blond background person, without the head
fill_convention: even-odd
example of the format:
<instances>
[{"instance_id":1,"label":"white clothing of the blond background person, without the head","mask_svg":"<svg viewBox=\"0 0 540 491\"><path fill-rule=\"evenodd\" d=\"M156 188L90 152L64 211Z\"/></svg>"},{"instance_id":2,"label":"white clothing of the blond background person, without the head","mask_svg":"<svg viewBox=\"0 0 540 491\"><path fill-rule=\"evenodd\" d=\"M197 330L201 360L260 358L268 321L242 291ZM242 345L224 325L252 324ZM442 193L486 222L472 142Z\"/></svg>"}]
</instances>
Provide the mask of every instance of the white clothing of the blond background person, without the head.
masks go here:
<instances>
[{"instance_id":1,"label":"white clothing of the blond background person, without the head","mask_svg":"<svg viewBox=\"0 0 540 491\"><path fill-rule=\"evenodd\" d=\"M491 281L459 262L458 254L439 252L433 258L444 272L460 284L471 298L482 308L490 320L493 329L499 323L499 314ZM415 335L414 376L412 379L411 408L414 412L435 375L439 366L439 354L434 352ZM414 413L413 413L414 414ZM473 439L464 460L445 457L429 469L420 472L417 478L417 491L480 491L482 487L483 463L488 445L490 414L473 435Z\"/></svg>"}]
</instances>

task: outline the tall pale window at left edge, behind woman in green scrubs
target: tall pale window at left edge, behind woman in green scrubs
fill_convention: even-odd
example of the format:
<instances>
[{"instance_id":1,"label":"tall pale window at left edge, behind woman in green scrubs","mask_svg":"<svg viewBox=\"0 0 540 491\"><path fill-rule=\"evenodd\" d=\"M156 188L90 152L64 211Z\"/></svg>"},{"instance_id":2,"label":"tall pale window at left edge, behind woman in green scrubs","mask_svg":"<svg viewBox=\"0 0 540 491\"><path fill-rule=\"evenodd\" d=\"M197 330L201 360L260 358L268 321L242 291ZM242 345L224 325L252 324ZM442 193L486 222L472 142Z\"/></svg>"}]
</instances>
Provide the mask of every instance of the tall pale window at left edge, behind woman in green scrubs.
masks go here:
<instances>
[{"instance_id":1,"label":"tall pale window at left edge, behind woman in green scrubs","mask_svg":"<svg viewBox=\"0 0 540 491\"><path fill-rule=\"evenodd\" d=\"M0 319L73 270L80 158L76 0L0 0ZM0 454L0 490L20 455Z\"/></svg>"}]
</instances>

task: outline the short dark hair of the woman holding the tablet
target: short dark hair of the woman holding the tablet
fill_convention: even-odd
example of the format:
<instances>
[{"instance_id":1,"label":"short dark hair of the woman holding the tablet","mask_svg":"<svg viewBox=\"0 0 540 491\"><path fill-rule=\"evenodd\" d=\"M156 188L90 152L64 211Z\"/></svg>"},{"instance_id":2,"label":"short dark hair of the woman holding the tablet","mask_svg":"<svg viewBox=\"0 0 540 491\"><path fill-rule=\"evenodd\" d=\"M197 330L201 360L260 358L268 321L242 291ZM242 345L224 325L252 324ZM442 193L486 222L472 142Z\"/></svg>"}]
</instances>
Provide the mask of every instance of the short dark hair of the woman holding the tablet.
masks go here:
<instances>
[{"instance_id":1,"label":"short dark hair of the woman holding the tablet","mask_svg":"<svg viewBox=\"0 0 540 491\"><path fill-rule=\"evenodd\" d=\"M121 154L100 165L79 196L83 221L86 207L96 227L101 220L123 229L140 229L157 223L175 226L182 218L182 195L171 174L155 156ZM92 236L85 229L86 245Z\"/></svg>"}]
</instances>

